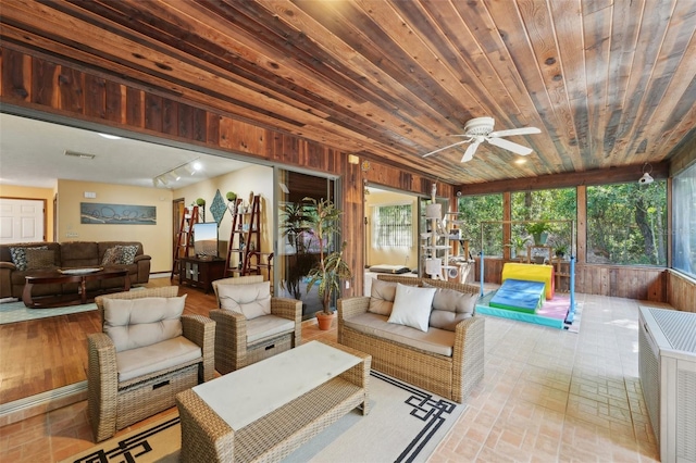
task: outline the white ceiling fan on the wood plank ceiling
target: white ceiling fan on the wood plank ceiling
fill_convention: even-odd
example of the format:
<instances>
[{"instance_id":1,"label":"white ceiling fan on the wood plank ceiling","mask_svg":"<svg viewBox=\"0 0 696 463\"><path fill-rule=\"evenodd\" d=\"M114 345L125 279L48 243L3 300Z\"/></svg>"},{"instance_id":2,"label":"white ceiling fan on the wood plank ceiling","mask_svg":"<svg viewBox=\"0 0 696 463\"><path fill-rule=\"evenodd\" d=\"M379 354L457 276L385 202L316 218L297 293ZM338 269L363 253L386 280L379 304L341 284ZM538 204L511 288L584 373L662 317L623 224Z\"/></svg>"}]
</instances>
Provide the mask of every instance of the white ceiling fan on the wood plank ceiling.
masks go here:
<instances>
[{"instance_id":1,"label":"white ceiling fan on the wood plank ceiling","mask_svg":"<svg viewBox=\"0 0 696 463\"><path fill-rule=\"evenodd\" d=\"M435 151L431 151L430 153L423 154L423 158L427 158L428 155L438 153L440 151L447 150L449 148L457 147L463 143L471 143L464 155L461 159L461 162L469 162L474 157L478 145L484 141L489 142L496 147L505 148L508 151L512 151L515 154L527 155L532 152L532 148L524 147L522 145L518 145L510 140L506 140L502 137L509 137L512 135L531 135L531 134L540 134L536 127L521 127L521 128L511 128L509 130L497 130L493 132L493 126L495 121L493 117L476 117L472 118L464 125L464 133L461 135L453 135L453 137L464 137L465 140L458 141L452 145L448 145L445 148L439 148Z\"/></svg>"}]
</instances>

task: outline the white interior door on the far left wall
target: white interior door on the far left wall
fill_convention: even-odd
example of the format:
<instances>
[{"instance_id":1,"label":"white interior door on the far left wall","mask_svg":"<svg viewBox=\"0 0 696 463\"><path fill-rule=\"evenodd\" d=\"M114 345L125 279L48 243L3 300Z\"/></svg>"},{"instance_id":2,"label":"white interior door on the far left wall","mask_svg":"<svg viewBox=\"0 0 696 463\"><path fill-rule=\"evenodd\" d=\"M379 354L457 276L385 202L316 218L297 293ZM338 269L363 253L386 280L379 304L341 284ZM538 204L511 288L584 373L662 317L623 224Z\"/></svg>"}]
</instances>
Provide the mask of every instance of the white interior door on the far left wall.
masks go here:
<instances>
[{"instance_id":1,"label":"white interior door on the far left wall","mask_svg":"<svg viewBox=\"0 0 696 463\"><path fill-rule=\"evenodd\" d=\"M0 243L45 241L46 204L34 199L0 199Z\"/></svg>"}]
</instances>

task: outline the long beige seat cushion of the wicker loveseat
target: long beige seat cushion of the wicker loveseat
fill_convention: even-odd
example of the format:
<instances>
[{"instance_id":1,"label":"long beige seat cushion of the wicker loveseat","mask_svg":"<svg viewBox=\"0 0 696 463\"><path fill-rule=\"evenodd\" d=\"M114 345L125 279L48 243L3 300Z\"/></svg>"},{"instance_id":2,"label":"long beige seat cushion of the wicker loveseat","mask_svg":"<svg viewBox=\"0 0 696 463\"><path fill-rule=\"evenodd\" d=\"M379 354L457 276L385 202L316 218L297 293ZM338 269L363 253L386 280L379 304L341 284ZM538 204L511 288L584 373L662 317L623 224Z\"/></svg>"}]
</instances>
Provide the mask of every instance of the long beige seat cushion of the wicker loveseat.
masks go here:
<instances>
[{"instance_id":1,"label":"long beige seat cushion of the wicker loveseat","mask_svg":"<svg viewBox=\"0 0 696 463\"><path fill-rule=\"evenodd\" d=\"M445 329L430 328L421 331L410 326L387 323L387 317L365 312L344 322L347 327L357 331L399 342L426 352L452 356L455 333Z\"/></svg>"}]
</instances>

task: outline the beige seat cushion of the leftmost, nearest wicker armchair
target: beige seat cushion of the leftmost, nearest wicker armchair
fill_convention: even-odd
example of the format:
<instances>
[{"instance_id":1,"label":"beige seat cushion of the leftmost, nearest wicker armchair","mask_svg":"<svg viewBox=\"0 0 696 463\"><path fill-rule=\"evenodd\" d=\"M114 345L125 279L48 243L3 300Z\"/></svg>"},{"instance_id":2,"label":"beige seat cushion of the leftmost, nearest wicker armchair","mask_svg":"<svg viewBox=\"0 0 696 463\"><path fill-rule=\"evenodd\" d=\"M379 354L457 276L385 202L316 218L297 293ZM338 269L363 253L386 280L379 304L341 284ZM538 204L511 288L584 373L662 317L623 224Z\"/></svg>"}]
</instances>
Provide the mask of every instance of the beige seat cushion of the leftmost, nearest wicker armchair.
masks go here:
<instances>
[{"instance_id":1,"label":"beige seat cushion of the leftmost, nearest wicker armchair","mask_svg":"<svg viewBox=\"0 0 696 463\"><path fill-rule=\"evenodd\" d=\"M183 336L116 353L119 381L149 375L202 359L201 349Z\"/></svg>"}]
</instances>

